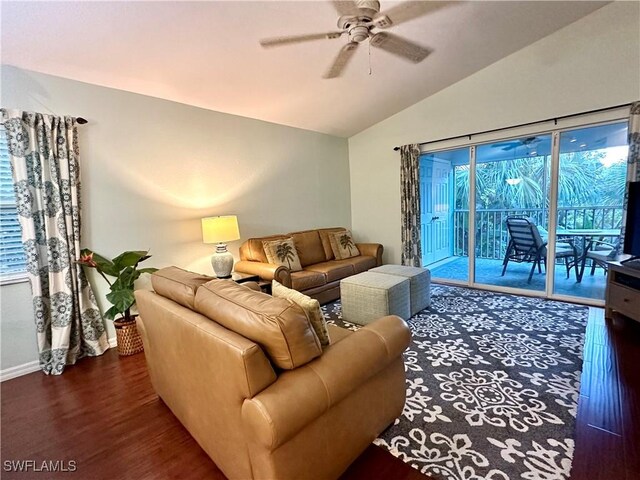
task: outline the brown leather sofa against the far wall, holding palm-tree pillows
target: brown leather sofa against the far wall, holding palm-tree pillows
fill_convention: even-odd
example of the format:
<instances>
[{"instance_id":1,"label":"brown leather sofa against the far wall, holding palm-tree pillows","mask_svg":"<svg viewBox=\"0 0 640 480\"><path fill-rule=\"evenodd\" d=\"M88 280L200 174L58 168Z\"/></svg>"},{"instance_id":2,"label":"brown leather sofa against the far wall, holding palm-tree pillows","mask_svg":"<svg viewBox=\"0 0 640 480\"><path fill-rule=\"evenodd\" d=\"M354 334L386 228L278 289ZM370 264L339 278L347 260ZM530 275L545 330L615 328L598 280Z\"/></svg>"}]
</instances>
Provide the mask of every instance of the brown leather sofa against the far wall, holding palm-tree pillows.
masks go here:
<instances>
[{"instance_id":1,"label":"brown leather sofa against the far wall, holding palm-tree pillows","mask_svg":"<svg viewBox=\"0 0 640 480\"><path fill-rule=\"evenodd\" d=\"M320 228L269 237L250 238L240 246L240 261L236 272L259 275L263 280L277 280L286 287L327 303L340 298L340 280L382 265L383 247L379 243L356 243L360 255L345 260L336 260L329 233L345 228ZM288 268L268 263L262 247L263 241L291 237L296 246L302 271L291 272Z\"/></svg>"}]
</instances>

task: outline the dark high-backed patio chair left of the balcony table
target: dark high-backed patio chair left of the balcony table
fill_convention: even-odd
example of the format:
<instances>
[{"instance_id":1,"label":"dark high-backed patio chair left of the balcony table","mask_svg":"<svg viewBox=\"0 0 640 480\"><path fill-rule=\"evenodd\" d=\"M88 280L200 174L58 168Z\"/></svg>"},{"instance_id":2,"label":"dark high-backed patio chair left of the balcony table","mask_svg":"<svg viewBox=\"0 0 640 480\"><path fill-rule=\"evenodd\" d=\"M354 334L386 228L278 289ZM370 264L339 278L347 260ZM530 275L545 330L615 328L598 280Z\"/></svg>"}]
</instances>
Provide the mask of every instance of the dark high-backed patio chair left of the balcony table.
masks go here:
<instances>
[{"instance_id":1,"label":"dark high-backed patio chair left of the balcony table","mask_svg":"<svg viewBox=\"0 0 640 480\"><path fill-rule=\"evenodd\" d=\"M542 273L541 264L547 258L547 242L542 239L538 227L527 217L508 217L507 230L509 231L509 246L502 262L502 276L507 271L509 261L523 263L531 262L531 271L527 283L531 283L533 272L538 266L538 272ZM573 240L568 239L556 243L556 258L563 258L567 269L567 278L571 268L575 268L576 281L578 280L578 250L573 245Z\"/></svg>"}]
</instances>

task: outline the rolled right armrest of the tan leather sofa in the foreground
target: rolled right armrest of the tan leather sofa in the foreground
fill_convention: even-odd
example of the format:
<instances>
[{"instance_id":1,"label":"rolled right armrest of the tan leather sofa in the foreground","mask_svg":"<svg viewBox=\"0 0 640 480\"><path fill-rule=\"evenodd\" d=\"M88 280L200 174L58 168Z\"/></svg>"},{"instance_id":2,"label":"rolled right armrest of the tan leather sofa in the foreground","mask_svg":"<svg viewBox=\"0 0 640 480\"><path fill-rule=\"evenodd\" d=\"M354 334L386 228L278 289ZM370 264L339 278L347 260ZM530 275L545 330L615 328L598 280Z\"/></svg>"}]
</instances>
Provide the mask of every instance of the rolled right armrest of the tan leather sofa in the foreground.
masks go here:
<instances>
[{"instance_id":1,"label":"rolled right armrest of the tan leather sofa in the foreground","mask_svg":"<svg viewBox=\"0 0 640 480\"><path fill-rule=\"evenodd\" d=\"M247 439L269 450L284 444L394 361L402 362L410 339L404 320L383 317L332 345L319 358L282 373L244 401Z\"/></svg>"}]
</instances>

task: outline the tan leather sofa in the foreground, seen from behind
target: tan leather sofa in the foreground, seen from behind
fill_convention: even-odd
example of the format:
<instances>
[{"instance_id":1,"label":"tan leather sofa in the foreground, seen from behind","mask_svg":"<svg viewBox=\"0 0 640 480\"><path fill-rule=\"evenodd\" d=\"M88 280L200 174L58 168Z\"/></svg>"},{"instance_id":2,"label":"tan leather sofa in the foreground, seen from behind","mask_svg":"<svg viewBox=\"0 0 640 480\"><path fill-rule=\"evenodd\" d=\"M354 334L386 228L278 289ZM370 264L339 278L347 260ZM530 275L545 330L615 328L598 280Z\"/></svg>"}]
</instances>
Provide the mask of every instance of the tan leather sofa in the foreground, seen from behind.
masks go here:
<instances>
[{"instance_id":1,"label":"tan leather sofa in the foreground, seen from behind","mask_svg":"<svg viewBox=\"0 0 640 480\"><path fill-rule=\"evenodd\" d=\"M136 292L151 382L228 478L337 478L401 414L399 317L329 326L322 350L289 300L176 267L152 285Z\"/></svg>"}]
</instances>

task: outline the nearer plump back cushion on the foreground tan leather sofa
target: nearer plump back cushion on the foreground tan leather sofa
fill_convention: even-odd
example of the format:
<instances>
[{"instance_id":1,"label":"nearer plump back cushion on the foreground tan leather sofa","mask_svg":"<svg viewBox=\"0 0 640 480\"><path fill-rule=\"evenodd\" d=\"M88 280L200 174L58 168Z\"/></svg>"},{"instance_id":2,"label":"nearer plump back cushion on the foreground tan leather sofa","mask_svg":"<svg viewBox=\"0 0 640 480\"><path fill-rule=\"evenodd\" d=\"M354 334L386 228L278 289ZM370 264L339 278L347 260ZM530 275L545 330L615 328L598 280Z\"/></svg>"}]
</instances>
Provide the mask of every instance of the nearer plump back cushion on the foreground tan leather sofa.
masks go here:
<instances>
[{"instance_id":1,"label":"nearer plump back cushion on the foreground tan leather sofa","mask_svg":"<svg viewBox=\"0 0 640 480\"><path fill-rule=\"evenodd\" d=\"M214 280L198 289L195 310L256 342L279 368L291 370L322 354L302 308L284 298Z\"/></svg>"}]
</instances>

